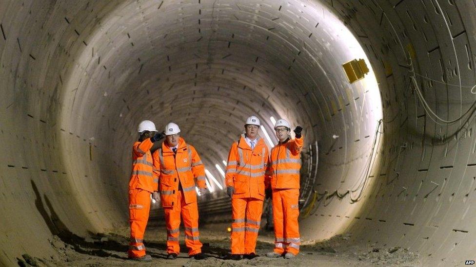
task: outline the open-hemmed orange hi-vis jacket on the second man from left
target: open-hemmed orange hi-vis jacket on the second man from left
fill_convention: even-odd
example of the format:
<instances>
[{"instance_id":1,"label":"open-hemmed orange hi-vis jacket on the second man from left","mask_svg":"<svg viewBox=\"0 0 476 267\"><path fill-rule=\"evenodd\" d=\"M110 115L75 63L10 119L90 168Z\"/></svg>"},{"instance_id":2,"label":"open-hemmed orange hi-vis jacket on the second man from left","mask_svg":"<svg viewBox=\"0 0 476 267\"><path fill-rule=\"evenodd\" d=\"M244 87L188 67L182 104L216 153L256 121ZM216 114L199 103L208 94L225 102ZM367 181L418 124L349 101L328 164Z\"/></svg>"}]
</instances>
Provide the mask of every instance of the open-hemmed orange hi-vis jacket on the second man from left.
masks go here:
<instances>
[{"instance_id":1,"label":"open-hemmed orange hi-vis jacket on the second man from left","mask_svg":"<svg viewBox=\"0 0 476 267\"><path fill-rule=\"evenodd\" d=\"M179 148L175 155L167 142L154 152L154 177L159 179L160 201L162 207L177 204L179 181L182 186L185 203L197 201L195 178L199 188L206 188L205 167L195 148L180 137Z\"/></svg>"}]
</instances>

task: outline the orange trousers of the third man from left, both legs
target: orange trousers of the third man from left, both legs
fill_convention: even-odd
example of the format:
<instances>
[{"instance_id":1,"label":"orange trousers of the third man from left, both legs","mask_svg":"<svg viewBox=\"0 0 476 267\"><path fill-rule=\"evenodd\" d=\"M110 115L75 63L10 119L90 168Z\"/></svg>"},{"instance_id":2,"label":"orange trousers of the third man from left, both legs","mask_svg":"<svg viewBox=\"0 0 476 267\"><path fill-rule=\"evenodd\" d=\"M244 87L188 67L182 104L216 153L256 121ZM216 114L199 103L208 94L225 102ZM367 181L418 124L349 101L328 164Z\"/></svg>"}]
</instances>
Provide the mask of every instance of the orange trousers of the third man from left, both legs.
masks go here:
<instances>
[{"instance_id":1,"label":"orange trousers of the third man from left, both legs","mask_svg":"<svg viewBox=\"0 0 476 267\"><path fill-rule=\"evenodd\" d=\"M232 198L231 253L256 253L263 200L257 198ZM246 214L246 217L245 217Z\"/></svg>"}]
</instances>

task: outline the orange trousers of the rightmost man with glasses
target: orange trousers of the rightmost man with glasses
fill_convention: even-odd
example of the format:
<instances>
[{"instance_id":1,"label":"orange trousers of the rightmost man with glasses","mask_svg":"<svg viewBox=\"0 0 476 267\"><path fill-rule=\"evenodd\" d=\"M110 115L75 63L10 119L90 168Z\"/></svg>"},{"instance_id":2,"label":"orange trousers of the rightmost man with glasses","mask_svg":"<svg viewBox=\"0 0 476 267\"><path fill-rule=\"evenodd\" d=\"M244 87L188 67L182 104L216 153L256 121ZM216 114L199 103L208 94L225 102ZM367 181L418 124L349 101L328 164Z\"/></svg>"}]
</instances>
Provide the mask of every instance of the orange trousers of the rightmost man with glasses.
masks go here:
<instances>
[{"instance_id":1,"label":"orange trousers of the rightmost man with glasses","mask_svg":"<svg viewBox=\"0 0 476 267\"><path fill-rule=\"evenodd\" d=\"M273 189L275 249L282 254L299 253L299 189Z\"/></svg>"}]
</instances>

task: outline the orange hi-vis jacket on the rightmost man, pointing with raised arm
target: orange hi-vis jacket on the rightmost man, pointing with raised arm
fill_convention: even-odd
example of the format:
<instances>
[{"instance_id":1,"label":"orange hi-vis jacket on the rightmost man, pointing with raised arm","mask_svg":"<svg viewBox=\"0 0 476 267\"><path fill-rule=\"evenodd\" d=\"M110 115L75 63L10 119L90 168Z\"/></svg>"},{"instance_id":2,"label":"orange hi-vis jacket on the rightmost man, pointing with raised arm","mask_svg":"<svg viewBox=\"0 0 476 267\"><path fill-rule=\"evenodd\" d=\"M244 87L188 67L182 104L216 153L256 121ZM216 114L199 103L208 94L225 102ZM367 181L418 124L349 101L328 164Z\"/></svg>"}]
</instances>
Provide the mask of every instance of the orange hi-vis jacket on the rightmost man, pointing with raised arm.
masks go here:
<instances>
[{"instance_id":1,"label":"orange hi-vis jacket on the rightmost man, pointing with raised arm","mask_svg":"<svg viewBox=\"0 0 476 267\"><path fill-rule=\"evenodd\" d=\"M303 137L279 142L271 149L271 159L266 171L271 176L273 189L298 189L301 169L301 148Z\"/></svg>"}]
</instances>

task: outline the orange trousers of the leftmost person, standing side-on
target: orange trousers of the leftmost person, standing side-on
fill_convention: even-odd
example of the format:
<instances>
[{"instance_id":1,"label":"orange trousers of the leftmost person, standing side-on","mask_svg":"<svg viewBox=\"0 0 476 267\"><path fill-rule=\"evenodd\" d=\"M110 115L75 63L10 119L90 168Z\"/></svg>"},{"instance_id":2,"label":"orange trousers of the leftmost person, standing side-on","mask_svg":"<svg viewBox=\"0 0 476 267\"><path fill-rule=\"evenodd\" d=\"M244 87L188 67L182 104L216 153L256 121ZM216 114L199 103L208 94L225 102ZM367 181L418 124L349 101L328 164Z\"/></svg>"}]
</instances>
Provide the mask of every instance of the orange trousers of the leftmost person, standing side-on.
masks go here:
<instances>
[{"instance_id":1,"label":"orange trousers of the leftmost person, standing side-on","mask_svg":"<svg viewBox=\"0 0 476 267\"><path fill-rule=\"evenodd\" d=\"M129 243L129 257L137 258L145 255L145 246L142 243L145 227L149 220L150 192L142 189L129 190L129 223L131 225L131 240Z\"/></svg>"}]
</instances>

